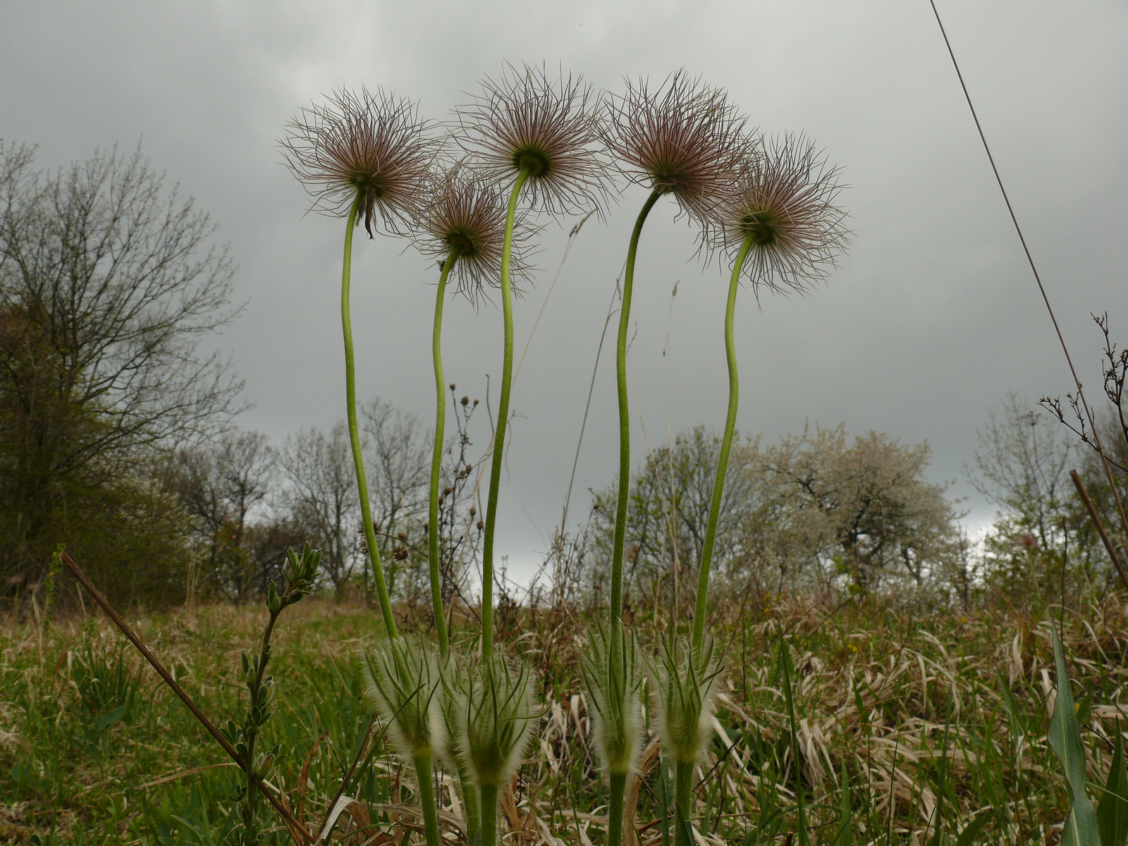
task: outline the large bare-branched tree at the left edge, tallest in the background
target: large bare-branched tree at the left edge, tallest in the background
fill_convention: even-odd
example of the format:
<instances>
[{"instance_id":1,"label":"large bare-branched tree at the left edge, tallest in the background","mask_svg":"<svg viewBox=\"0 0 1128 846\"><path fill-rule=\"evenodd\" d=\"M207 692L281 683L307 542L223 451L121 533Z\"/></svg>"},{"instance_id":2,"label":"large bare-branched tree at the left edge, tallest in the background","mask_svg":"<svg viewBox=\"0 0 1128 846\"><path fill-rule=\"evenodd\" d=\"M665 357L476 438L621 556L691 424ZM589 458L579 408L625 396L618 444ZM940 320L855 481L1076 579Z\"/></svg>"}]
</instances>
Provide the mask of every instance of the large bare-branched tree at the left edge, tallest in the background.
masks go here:
<instances>
[{"instance_id":1,"label":"large bare-branched tree at the left edge, tallest in the background","mask_svg":"<svg viewBox=\"0 0 1128 846\"><path fill-rule=\"evenodd\" d=\"M140 149L49 173L0 144L3 570L45 561L76 485L109 484L238 409L241 385L199 349L235 314L213 232Z\"/></svg>"}]
</instances>

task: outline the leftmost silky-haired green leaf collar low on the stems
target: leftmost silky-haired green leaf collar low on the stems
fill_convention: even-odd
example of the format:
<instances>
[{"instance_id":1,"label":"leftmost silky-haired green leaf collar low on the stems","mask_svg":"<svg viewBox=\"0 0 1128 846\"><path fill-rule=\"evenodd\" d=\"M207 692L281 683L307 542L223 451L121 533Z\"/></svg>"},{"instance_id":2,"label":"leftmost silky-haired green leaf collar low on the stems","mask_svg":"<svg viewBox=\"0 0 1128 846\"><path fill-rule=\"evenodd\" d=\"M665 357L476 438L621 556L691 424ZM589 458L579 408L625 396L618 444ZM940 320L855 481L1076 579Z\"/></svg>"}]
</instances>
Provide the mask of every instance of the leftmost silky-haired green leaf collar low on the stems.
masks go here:
<instances>
[{"instance_id":1,"label":"leftmost silky-haired green leaf collar low on the stems","mask_svg":"<svg viewBox=\"0 0 1128 846\"><path fill-rule=\"evenodd\" d=\"M361 661L369 696L399 754L409 760L442 750L442 680L431 649L422 640L397 637L362 653Z\"/></svg>"}]
</instances>

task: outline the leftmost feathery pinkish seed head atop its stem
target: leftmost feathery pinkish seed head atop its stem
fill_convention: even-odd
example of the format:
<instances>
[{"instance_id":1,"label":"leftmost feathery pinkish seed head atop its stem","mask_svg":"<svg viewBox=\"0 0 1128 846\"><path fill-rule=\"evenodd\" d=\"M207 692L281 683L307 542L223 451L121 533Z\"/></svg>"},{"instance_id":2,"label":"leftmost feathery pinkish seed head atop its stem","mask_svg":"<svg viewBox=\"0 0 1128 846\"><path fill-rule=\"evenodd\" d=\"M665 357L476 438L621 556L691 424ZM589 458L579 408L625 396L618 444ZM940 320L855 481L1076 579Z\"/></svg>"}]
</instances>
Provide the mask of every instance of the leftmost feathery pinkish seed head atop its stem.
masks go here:
<instances>
[{"instance_id":1,"label":"leftmost feathery pinkish seed head atop its stem","mask_svg":"<svg viewBox=\"0 0 1128 846\"><path fill-rule=\"evenodd\" d=\"M364 228L398 233L412 217L435 142L414 103L377 88L334 91L302 108L279 143L285 165L314 197L314 209L347 214L358 194ZM360 222L358 218L358 223Z\"/></svg>"}]
</instances>

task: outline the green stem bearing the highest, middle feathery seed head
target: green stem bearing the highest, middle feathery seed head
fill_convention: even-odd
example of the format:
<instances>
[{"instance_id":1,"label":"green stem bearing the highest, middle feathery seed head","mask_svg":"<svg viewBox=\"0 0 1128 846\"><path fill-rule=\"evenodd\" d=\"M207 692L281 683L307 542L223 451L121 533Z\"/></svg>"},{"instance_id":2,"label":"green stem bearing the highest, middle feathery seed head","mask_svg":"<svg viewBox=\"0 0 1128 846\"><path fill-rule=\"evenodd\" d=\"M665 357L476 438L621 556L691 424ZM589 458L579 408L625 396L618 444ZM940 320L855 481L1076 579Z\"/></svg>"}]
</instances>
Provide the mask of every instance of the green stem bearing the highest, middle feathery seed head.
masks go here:
<instances>
[{"instance_id":1,"label":"green stem bearing the highest, middle feathery seed head","mask_svg":"<svg viewBox=\"0 0 1128 846\"><path fill-rule=\"evenodd\" d=\"M513 252L513 219L517 215L517 197L521 193L529 176L527 168L521 168L509 195L509 208L505 211L505 239L501 249L501 308L505 321L505 353L501 368L501 397L497 400L497 425L494 429L493 461L490 467L490 494L486 500L485 536L482 540L482 658L488 661L493 656L493 535L497 521L497 488L501 486L501 466L504 460L505 421L509 417L509 389L513 381L513 292L509 282L510 256ZM485 786L482 788L482 835L485 844L486 816L496 817L496 808L492 811L485 808ZM496 804L497 788L494 787ZM488 846L488 844L486 844Z\"/></svg>"}]
</instances>

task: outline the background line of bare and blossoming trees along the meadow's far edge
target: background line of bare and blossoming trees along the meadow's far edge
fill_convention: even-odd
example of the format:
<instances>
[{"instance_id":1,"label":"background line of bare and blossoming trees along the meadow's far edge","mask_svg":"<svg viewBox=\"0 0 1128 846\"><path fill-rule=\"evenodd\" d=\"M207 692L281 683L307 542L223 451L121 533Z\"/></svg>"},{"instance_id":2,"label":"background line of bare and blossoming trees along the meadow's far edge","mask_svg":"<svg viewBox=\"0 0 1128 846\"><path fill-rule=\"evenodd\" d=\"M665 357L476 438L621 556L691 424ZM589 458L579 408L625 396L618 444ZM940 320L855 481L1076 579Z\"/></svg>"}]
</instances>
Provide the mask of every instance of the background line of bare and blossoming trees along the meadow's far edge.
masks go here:
<instances>
[{"instance_id":1,"label":"background line of bare and blossoming trees along the meadow's far edge","mask_svg":"<svg viewBox=\"0 0 1128 846\"><path fill-rule=\"evenodd\" d=\"M209 217L167 187L140 150L49 171L35 168L33 149L0 142L5 596L42 590L64 544L118 602L244 601L279 576L289 546L308 540L323 549L326 587L368 597L344 425L279 444L235 425L243 384L204 343L238 314L233 268L213 235ZM477 400L451 386L450 402L457 431L443 466L444 600L458 596L473 613L488 432L475 446ZM844 425L809 426L775 444L741 441L719 520L723 589L760 600L897 590L963 603L985 592L1029 603L1107 589L1111 562L1068 472L1081 472L1105 518L1111 491L1057 416L1011 398L980 431L968 475L998 508L981 545L961 529L948 486L928 481L927 444L879 432L852 438ZM390 587L402 607L425 608L432 435L380 399L362 420ZM1122 481L1120 423L1113 414L1105 425ZM697 428L634 474L632 602L666 607L691 594L719 448L717 434ZM557 535L545 562L555 596L599 601L606 591L598 574L610 554L615 491L592 492L589 519L569 544Z\"/></svg>"}]
</instances>

